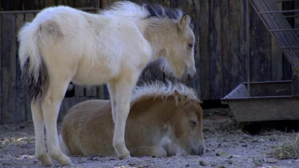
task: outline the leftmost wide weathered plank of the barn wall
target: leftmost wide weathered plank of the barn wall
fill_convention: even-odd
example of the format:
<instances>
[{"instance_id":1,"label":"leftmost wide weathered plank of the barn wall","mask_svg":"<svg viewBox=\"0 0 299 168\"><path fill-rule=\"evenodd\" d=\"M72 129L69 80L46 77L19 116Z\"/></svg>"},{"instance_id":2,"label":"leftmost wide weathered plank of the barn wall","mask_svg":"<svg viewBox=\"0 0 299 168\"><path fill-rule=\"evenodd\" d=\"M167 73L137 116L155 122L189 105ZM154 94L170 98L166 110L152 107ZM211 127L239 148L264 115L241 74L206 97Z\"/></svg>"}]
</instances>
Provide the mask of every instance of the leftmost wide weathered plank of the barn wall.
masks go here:
<instances>
[{"instance_id":1,"label":"leftmost wide weathered plank of the barn wall","mask_svg":"<svg viewBox=\"0 0 299 168\"><path fill-rule=\"evenodd\" d=\"M16 112L16 18L2 15L2 117L4 123L18 122Z\"/></svg>"}]
</instances>

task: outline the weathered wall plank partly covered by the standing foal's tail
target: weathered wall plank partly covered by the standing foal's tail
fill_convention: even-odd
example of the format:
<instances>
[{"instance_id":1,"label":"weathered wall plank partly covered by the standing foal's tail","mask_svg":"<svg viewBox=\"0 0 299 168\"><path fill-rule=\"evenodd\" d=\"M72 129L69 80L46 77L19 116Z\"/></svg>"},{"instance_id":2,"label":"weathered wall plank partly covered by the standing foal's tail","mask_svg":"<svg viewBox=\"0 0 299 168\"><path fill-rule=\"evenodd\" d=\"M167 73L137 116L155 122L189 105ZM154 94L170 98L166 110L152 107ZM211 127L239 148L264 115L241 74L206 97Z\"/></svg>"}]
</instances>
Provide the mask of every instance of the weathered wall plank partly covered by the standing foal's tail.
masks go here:
<instances>
[{"instance_id":1,"label":"weathered wall plank partly covered by the standing foal's tail","mask_svg":"<svg viewBox=\"0 0 299 168\"><path fill-rule=\"evenodd\" d=\"M18 34L20 28L24 25L24 14L16 15L16 34ZM17 43L17 49L19 44ZM19 62L19 55L16 51L16 112L18 113L18 121L26 120L26 95L23 87L23 82L21 80L21 67Z\"/></svg>"}]
</instances>

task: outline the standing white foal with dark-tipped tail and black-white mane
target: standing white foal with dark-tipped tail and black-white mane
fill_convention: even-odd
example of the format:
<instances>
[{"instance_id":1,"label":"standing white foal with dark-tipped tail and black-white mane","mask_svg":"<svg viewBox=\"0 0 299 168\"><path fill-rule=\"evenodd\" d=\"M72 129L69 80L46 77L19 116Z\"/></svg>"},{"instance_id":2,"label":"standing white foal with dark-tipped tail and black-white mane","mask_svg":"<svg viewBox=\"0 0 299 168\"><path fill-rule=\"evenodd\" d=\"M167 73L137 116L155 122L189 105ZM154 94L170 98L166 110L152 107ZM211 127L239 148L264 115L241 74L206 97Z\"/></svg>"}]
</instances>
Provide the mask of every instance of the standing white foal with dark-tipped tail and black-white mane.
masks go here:
<instances>
[{"instance_id":1,"label":"standing white foal with dark-tipped tail and black-white mane","mask_svg":"<svg viewBox=\"0 0 299 168\"><path fill-rule=\"evenodd\" d=\"M72 165L61 152L57 116L68 84L108 83L120 159L130 157L124 143L130 97L145 66L163 58L177 78L195 77L194 34L188 14L159 5L117 2L99 14L70 7L50 7L19 32L19 58L30 94L35 130L35 156L42 165L51 158ZM47 132L49 156L44 142Z\"/></svg>"}]
</instances>

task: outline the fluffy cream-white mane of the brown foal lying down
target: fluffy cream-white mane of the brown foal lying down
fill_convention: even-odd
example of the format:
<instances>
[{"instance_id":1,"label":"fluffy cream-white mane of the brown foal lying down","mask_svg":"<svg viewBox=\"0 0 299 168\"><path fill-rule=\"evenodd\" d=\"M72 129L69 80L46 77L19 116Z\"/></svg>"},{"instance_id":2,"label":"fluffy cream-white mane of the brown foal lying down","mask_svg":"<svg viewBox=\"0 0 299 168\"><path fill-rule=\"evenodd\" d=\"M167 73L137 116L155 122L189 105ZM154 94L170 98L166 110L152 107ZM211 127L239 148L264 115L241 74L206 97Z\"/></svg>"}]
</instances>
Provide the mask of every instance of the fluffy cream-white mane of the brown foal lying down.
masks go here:
<instances>
[{"instance_id":1,"label":"fluffy cream-white mane of the brown foal lying down","mask_svg":"<svg viewBox=\"0 0 299 168\"><path fill-rule=\"evenodd\" d=\"M143 86L135 87L131 97L131 106L135 102L145 97L152 97L153 99L161 97L164 101L166 101L167 97L174 95L176 90L179 92L180 95L186 96L186 101L195 100L200 102L193 89L187 87L184 84L172 84L169 81L167 81L167 84L164 84L162 82L156 81L151 84L145 83Z\"/></svg>"}]
</instances>

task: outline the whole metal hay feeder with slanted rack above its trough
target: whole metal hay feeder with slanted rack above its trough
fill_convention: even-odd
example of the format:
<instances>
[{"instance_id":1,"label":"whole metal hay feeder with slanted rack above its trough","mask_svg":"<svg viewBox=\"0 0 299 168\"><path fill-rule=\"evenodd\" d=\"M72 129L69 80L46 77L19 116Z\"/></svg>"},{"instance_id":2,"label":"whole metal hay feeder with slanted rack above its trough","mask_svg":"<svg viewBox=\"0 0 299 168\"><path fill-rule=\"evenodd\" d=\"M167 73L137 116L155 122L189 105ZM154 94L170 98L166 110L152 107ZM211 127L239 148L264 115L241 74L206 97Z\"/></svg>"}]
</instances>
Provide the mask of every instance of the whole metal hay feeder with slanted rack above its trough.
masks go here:
<instances>
[{"instance_id":1,"label":"whole metal hay feeder with slanted rack above its trough","mask_svg":"<svg viewBox=\"0 0 299 168\"><path fill-rule=\"evenodd\" d=\"M299 120L299 38L296 34L299 28L291 28L282 14L299 10L280 11L275 0L247 0L247 39L249 3L292 64L292 81L250 82L247 42L247 82L239 84L221 99L221 103L229 105L239 122Z\"/></svg>"}]
</instances>

